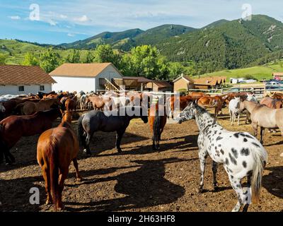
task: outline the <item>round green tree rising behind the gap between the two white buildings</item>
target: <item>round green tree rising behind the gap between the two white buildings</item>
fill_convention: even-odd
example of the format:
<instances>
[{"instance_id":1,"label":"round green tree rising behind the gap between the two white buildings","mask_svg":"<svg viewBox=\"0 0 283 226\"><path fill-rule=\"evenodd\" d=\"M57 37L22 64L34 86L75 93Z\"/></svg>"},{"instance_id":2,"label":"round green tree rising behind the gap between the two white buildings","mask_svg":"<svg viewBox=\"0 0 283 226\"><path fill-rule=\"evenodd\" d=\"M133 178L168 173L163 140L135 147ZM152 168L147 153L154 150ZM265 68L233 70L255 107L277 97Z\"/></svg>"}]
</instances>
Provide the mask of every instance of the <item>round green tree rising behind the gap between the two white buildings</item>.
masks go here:
<instances>
[{"instance_id":1,"label":"round green tree rising behind the gap between the two white buildings","mask_svg":"<svg viewBox=\"0 0 283 226\"><path fill-rule=\"evenodd\" d=\"M50 73L60 65L60 56L57 52L52 52L50 49L40 55L40 67Z\"/></svg>"}]
</instances>

